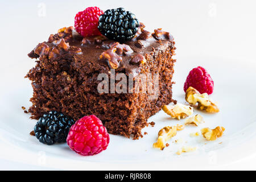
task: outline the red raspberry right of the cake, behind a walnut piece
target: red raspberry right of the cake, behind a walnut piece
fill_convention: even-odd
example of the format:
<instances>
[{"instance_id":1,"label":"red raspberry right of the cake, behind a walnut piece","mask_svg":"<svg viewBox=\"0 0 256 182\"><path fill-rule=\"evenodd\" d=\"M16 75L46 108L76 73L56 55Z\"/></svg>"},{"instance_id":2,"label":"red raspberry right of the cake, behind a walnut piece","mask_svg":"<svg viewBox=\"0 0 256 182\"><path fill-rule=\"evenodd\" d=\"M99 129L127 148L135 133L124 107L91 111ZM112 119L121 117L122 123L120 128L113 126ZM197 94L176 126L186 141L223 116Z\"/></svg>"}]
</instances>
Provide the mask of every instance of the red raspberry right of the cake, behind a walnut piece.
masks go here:
<instances>
[{"instance_id":1,"label":"red raspberry right of the cake, behind a walnut piece","mask_svg":"<svg viewBox=\"0 0 256 182\"><path fill-rule=\"evenodd\" d=\"M189 86L192 86L196 90L202 93L213 93L214 82L209 73L203 67L193 68L187 77L184 84L184 92L187 91Z\"/></svg>"}]
</instances>

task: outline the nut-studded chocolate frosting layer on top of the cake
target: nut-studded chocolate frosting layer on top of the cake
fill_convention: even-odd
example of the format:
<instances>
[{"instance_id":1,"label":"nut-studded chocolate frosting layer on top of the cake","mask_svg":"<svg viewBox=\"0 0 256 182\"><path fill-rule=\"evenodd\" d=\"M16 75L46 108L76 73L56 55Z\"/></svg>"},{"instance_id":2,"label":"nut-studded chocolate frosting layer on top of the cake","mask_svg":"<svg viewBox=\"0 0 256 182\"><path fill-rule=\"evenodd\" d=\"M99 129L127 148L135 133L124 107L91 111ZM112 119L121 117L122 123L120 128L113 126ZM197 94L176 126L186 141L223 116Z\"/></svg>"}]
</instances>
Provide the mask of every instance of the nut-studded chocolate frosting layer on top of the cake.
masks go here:
<instances>
[{"instance_id":1,"label":"nut-studded chocolate frosting layer on top of the cake","mask_svg":"<svg viewBox=\"0 0 256 182\"><path fill-rule=\"evenodd\" d=\"M50 35L48 42L38 44L28 56L39 60L60 60L76 56L93 64L103 64L116 72L138 73L152 50L159 51L174 47L174 39L169 32L157 29L153 34L140 24L133 40L120 44L105 36L82 38L73 27L61 28ZM147 56L146 56L147 55Z\"/></svg>"}]
</instances>

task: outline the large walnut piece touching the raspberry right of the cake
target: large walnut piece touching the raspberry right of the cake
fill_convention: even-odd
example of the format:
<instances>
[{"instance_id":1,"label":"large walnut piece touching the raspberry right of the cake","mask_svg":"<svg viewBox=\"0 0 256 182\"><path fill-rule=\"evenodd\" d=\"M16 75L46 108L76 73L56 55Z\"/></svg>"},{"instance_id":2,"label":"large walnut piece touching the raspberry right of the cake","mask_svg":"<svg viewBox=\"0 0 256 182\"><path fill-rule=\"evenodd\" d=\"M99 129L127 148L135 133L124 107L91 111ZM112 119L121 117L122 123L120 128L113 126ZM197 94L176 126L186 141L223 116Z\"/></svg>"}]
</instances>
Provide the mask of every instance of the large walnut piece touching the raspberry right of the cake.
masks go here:
<instances>
[{"instance_id":1,"label":"large walnut piece touching the raspberry right of the cake","mask_svg":"<svg viewBox=\"0 0 256 182\"><path fill-rule=\"evenodd\" d=\"M205 110L208 113L218 113L218 111L220 111L217 105L209 99L207 93L200 94L192 86L189 86L189 88L187 89L185 94L185 100L192 105L196 105L196 103L198 103L197 109Z\"/></svg>"}]
</instances>

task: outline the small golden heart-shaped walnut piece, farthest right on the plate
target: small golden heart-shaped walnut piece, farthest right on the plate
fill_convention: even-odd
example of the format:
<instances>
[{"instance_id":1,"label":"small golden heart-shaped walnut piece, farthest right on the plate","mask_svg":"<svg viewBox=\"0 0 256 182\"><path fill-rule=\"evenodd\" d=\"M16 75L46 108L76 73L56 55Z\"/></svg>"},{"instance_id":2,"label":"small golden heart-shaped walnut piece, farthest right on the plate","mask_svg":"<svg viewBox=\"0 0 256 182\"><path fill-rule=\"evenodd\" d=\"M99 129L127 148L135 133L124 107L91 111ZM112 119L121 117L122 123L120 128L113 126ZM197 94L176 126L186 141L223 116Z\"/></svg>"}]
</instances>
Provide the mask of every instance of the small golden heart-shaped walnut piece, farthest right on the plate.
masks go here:
<instances>
[{"instance_id":1,"label":"small golden heart-shaped walnut piece, farthest right on the plate","mask_svg":"<svg viewBox=\"0 0 256 182\"><path fill-rule=\"evenodd\" d=\"M223 132L225 131L225 128L222 126L217 126L215 129L209 129L209 127L205 127L204 129L201 129L201 134L204 136L207 140L216 140L218 137L221 137Z\"/></svg>"}]
</instances>

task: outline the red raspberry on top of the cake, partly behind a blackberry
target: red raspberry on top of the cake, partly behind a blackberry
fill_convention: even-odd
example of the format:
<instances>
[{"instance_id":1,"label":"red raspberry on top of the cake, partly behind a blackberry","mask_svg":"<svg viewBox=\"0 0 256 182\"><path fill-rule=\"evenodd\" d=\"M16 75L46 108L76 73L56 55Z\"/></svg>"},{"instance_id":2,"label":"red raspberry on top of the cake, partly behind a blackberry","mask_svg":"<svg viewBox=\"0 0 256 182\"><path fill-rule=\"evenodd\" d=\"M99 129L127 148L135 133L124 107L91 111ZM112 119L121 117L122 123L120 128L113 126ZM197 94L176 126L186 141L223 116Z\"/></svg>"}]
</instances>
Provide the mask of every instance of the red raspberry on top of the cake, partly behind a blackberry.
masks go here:
<instances>
[{"instance_id":1,"label":"red raspberry on top of the cake, partly behind a blackberry","mask_svg":"<svg viewBox=\"0 0 256 182\"><path fill-rule=\"evenodd\" d=\"M88 7L75 16L75 28L83 37L101 35L98 30L98 17L104 12L98 7Z\"/></svg>"}]
</instances>

